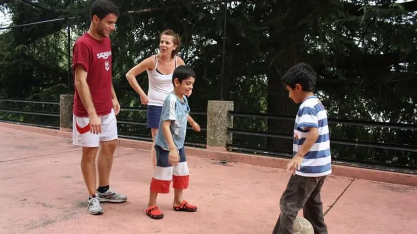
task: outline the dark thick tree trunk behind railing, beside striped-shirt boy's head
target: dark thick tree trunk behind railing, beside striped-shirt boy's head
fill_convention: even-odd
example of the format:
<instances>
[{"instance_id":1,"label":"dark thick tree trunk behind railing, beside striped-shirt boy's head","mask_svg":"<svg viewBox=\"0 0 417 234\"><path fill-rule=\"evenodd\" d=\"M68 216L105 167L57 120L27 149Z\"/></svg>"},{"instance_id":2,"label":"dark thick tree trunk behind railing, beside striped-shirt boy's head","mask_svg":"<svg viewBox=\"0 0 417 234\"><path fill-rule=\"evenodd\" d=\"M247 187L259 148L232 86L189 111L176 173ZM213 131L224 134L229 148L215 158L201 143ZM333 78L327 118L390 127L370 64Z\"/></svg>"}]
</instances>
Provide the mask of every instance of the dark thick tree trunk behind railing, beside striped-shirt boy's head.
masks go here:
<instances>
[{"instance_id":1,"label":"dark thick tree trunk behind railing, beside striped-shirt boy's head","mask_svg":"<svg viewBox=\"0 0 417 234\"><path fill-rule=\"evenodd\" d=\"M303 62L304 37L308 25L299 24L309 14L313 1L291 1L273 5L272 17L283 16L271 27L268 63L268 113L294 116L298 105L288 98L281 76L296 63ZM314 4L313 4L314 5ZM300 7L303 6L303 7ZM294 121L268 120L268 131L293 134ZM268 148L292 152L292 139L269 138Z\"/></svg>"}]
</instances>

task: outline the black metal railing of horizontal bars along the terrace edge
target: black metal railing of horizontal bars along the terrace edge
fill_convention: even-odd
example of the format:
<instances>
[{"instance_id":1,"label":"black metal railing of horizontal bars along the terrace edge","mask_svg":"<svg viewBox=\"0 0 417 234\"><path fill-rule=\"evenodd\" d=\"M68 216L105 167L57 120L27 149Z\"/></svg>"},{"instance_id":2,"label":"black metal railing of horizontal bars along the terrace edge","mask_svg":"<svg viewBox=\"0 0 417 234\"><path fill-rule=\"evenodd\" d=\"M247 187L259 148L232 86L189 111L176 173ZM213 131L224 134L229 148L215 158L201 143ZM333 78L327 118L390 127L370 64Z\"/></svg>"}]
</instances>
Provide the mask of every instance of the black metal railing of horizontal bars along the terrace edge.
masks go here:
<instances>
[{"instance_id":1,"label":"black metal railing of horizontal bars along the terrace edge","mask_svg":"<svg viewBox=\"0 0 417 234\"><path fill-rule=\"evenodd\" d=\"M16 103L31 103L31 104L42 104L42 107L46 105L59 105L59 101L54 100L34 100L34 99L21 99L21 98L0 98L0 103L2 102L16 102ZM39 108L38 108L39 109ZM1 113L16 113L16 114L23 114L23 115L41 115L41 116L50 116L51 118L59 118L60 113L56 111L41 111L41 110L29 110L29 109L22 109L22 108L4 108L0 106L0 114ZM130 106L122 106L122 112L146 112L146 107L130 107ZM190 112L191 115L207 115L206 110L193 110ZM275 119L275 120L285 120L285 121L294 121L293 116L289 115L280 115L280 114L267 114L267 113L253 113L253 112L242 112L242 111L229 111L229 114L234 117L243 117L243 118L256 118L256 119ZM35 121L26 121L26 120L12 120L12 119L2 119L0 121L7 122L7 123L14 123L14 124L24 124L29 126L36 126L36 127L44 127L44 128L52 128L52 129L59 129L59 124L56 123L44 123L44 122L35 122ZM350 125L350 126L364 126L364 127L375 127L375 128L389 128L389 129L397 129L397 130L417 130L417 125L413 124L400 124L400 123L383 123L383 122L373 122L373 121L358 121L358 120L340 120L340 119L328 119L329 125ZM126 118L118 118L118 125L127 125L127 126L141 126L140 129L146 129L146 122L141 120L132 120ZM130 128L130 127L129 127ZM129 129L128 128L128 129ZM329 128L331 128L329 126ZM190 126L187 127L187 130L192 130ZM201 131L207 131L206 126L201 126ZM228 132L236 135L247 135L247 136L258 136L258 137L267 137L267 138L280 138L280 139L288 139L292 140L292 134L284 134L284 133L277 133L277 132L269 132L269 131L258 131L258 130L247 130L247 129L239 129L239 128L228 128ZM121 138L126 139L135 139L135 140L143 140L143 141L151 141L152 138L150 133L146 134L138 134L137 132L128 130L127 132L120 131L119 129L119 136ZM376 148L376 149L383 149L383 150L394 150L394 151L403 151L409 153L417 152L417 145L407 145L407 144L392 144L386 142L372 142L372 141L363 141L363 140L349 140L349 139L338 139L338 138L331 138L331 144L335 145L345 145L345 146L354 146L354 147L369 147L369 148ZM198 141L198 140L187 140L185 142L187 146L193 147L202 147L204 148L206 145L205 141ZM268 148L259 148L259 147L252 147L246 145L239 145L239 144L229 144L227 145L228 149L231 151L239 151L239 152L246 152L252 154L263 154L269 156L279 156L279 157L292 157L292 152L288 151L280 151L276 149L268 149ZM380 163L380 162L371 162L365 160L358 160L358 159L349 159L349 158L336 158L334 160L337 163L353 163L355 166L362 166L367 168L381 168L381 166L386 166L385 169L387 170L395 170L401 171L404 168L411 168L417 169L416 166L404 166L404 165L397 165L395 163ZM393 167L397 167L393 169Z\"/></svg>"}]
</instances>

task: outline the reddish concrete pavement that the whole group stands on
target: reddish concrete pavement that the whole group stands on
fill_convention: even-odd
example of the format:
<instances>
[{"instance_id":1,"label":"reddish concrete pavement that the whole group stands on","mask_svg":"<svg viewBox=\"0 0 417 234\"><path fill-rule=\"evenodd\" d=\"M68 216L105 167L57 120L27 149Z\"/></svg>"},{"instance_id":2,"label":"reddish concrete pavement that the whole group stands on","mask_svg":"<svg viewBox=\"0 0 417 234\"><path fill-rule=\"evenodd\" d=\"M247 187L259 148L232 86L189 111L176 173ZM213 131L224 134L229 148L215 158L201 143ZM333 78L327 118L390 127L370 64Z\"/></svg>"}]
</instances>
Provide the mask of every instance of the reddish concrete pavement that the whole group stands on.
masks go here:
<instances>
[{"instance_id":1,"label":"reddish concrete pavement that the whole group stands on","mask_svg":"<svg viewBox=\"0 0 417 234\"><path fill-rule=\"evenodd\" d=\"M289 174L243 163L220 164L188 155L185 199L195 213L144 213L152 176L149 151L119 147L111 184L128 195L87 213L80 148L70 139L0 127L0 233L271 233ZM417 233L417 188L329 176L322 199L329 233ZM300 213L301 214L301 213Z\"/></svg>"}]
</instances>

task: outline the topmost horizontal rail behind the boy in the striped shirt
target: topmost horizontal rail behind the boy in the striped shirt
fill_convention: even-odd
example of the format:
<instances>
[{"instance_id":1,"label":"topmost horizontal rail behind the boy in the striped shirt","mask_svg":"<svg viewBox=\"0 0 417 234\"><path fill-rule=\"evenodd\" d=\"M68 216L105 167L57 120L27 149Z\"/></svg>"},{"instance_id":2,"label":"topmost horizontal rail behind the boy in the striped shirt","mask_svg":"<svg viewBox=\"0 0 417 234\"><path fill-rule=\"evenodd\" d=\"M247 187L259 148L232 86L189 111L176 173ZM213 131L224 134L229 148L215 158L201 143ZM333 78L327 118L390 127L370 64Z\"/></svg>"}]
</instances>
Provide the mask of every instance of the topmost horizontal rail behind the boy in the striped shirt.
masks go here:
<instances>
[{"instance_id":1,"label":"topmost horizontal rail behind the boy in the striped shirt","mask_svg":"<svg viewBox=\"0 0 417 234\"><path fill-rule=\"evenodd\" d=\"M229 114L232 116L236 116L236 117L265 118L265 119L288 120L288 121L294 121L295 119L294 116L283 115L283 114L253 113L253 112L242 112L242 111L229 111ZM332 118L329 118L328 121L329 121L329 124L417 130L417 125L415 124L385 123L385 122L377 122L377 121L360 121L360 120L341 120L341 119L332 119Z\"/></svg>"}]
</instances>

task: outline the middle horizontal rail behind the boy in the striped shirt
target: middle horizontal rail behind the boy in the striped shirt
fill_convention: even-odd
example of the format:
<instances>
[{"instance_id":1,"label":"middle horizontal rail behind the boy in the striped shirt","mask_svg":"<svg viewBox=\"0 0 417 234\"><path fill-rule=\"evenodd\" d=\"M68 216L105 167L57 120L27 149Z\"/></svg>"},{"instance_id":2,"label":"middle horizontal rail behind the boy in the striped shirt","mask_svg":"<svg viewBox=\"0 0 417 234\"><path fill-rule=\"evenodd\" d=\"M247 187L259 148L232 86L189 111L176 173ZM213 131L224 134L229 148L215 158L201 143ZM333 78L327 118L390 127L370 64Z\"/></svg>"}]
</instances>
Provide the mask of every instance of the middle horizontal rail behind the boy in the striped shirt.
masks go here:
<instances>
[{"instance_id":1,"label":"middle horizontal rail behind the boy in the striped shirt","mask_svg":"<svg viewBox=\"0 0 417 234\"><path fill-rule=\"evenodd\" d=\"M263 131L231 129L231 128L228 128L228 132L235 133L235 134L249 135L249 136L293 139L293 136L291 134L281 134L281 133L274 133L274 132L263 132ZM330 139L330 142L331 144L350 145L350 146L355 146L355 147L362 146L362 147L370 147L370 148L378 148L378 149L417 152L417 146L415 145L398 145L398 144L389 144L389 143L352 141L352 140L342 140L342 139Z\"/></svg>"}]
</instances>

